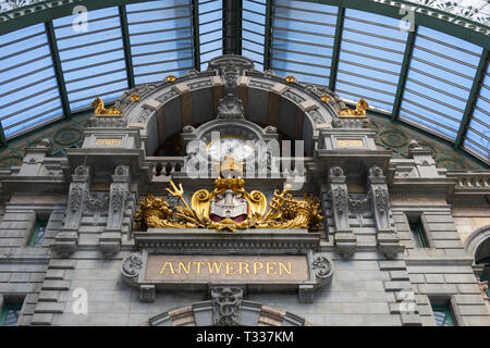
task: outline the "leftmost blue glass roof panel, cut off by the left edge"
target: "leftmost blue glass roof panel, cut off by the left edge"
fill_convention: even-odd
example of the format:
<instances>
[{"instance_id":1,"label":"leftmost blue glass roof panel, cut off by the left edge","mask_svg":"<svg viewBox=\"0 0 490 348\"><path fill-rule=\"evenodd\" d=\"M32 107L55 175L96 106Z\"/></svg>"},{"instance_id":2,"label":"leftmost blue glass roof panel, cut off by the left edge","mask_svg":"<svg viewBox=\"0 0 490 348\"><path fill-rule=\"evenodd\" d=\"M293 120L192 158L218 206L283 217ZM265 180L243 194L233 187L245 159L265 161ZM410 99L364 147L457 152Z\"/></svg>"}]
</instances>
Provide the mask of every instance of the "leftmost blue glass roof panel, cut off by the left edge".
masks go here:
<instances>
[{"instance_id":1,"label":"leftmost blue glass roof panel, cut off by the left edge","mask_svg":"<svg viewBox=\"0 0 490 348\"><path fill-rule=\"evenodd\" d=\"M0 115L7 138L63 116L45 24L0 36Z\"/></svg>"}]
</instances>

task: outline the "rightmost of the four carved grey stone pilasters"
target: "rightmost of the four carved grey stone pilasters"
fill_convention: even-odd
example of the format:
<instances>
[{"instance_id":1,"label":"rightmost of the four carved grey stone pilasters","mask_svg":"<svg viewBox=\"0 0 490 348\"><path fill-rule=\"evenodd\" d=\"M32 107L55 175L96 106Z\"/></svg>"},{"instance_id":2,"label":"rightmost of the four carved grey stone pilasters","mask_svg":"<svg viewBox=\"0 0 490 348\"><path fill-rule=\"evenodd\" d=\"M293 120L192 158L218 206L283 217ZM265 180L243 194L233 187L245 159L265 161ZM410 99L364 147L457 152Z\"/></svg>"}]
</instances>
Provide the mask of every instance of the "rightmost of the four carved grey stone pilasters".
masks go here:
<instances>
[{"instance_id":1,"label":"rightmost of the four carved grey stone pilasters","mask_svg":"<svg viewBox=\"0 0 490 348\"><path fill-rule=\"evenodd\" d=\"M400 245L396 232L391 226L387 177L379 165L369 169L367 183L368 197L371 201L371 210L378 231L378 249L388 258L394 258L399 251L403 250L403 246Z\"/></svg>"}]
</instances>

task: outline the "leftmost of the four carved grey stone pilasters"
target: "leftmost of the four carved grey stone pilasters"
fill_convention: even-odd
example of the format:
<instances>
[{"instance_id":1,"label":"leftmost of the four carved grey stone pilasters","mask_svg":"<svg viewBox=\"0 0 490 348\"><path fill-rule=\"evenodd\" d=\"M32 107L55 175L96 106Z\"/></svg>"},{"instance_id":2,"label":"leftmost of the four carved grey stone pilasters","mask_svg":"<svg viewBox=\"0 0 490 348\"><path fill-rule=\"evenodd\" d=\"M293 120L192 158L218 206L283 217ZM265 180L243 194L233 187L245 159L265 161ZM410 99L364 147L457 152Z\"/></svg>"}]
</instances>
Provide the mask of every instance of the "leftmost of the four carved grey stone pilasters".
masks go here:
<instances>
[{"instance_id":1,"label":"leftmost of the four carved grey stone pilasters","mask_svg":"<svg viewBox=\"0 0 490 348\"><path fill-rule=\"evenodd\" d=\"M64 225L54 237L52 249L68 258L78 245L78 226L86 201L89 198L90 171L87 165L78 165L72 175Z\"/></svg>"}]
</instances>

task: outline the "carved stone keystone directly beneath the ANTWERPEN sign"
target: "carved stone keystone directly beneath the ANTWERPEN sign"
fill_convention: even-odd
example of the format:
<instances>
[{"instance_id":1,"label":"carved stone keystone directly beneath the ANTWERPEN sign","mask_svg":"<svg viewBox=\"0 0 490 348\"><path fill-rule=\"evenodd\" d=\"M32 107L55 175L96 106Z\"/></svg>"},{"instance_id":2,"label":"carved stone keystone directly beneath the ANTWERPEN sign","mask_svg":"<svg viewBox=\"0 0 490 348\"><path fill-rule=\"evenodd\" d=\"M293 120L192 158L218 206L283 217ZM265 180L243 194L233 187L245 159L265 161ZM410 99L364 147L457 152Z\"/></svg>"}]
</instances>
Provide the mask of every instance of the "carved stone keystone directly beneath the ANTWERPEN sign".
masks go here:
<instances>
[{"instance_id":1,"label":"carved stone keystone directly beneath the ANTWERPEN sign","mask_svg":"<svg viewBox=\"0 0 490 348\"><path fill-rule=\"evenodd\" d=\"M215 326L236 326L242 322L241 287L211 287L212 321Z\"/></svg>"}]
</instances>

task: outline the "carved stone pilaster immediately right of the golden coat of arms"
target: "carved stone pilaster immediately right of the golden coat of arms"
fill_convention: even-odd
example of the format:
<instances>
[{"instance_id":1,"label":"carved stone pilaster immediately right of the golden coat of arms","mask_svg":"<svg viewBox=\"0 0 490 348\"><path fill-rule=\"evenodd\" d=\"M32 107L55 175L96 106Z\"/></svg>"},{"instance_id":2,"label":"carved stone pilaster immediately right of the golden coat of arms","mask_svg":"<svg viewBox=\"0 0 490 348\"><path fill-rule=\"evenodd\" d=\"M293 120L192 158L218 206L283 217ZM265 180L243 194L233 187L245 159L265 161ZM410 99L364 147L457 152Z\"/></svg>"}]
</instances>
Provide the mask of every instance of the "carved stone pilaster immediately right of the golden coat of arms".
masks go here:
<instances>
[{"instance_id":1,"label":"carved stone pilaster immediately right of the golden coat of arms","mask_svg":"<svg viewBox=\"0 0 490 348\"><path fill-rule=\"evenodd\" d=\"M334 244L342 257L350 257L357 244L348 224L348 191L345 184L346 177L340 166L333 166L329 171L329 192L332 200L332 212L335 222Z\"/></svg>"}]
</instances>

